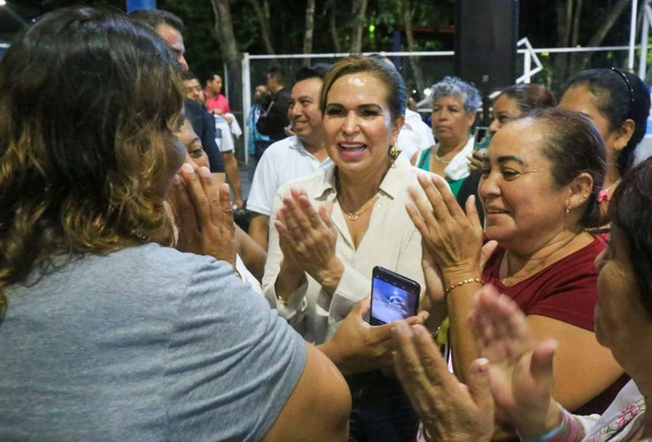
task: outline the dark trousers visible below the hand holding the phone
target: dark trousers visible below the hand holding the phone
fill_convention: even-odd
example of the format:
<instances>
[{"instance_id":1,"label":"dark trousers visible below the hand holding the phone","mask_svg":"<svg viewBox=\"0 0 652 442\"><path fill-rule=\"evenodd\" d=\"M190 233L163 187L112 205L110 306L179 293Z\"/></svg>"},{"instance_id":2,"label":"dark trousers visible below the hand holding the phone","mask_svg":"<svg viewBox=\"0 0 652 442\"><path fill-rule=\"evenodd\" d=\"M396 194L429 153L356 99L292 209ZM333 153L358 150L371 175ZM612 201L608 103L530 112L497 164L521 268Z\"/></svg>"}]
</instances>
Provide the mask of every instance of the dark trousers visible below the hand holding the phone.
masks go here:
<instances>
[{"instance_id":1,"label":"dark trousers visible below the hand holding the phone","mask_svg":"<svg viewBox=\"0 0 652 442\"><path fill-rule=\"evenodd\" d=\"M413 441L419 417L398 379L379 371L346 377L353 407L349 442Z\"/></svg>"}]
</instances>

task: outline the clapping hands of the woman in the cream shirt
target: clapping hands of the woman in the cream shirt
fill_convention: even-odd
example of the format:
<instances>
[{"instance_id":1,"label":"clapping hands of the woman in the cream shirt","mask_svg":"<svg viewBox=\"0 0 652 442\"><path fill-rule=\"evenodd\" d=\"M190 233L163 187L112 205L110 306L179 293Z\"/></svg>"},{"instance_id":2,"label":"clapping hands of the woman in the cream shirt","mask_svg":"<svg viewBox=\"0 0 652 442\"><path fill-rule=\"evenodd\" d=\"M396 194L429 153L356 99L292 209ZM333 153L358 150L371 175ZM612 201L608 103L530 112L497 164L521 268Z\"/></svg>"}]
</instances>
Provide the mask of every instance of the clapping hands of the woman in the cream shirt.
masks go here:
<instances>
[{"instance_id":1,"label":"clapping hands of the woman in the cream shirt","mask_svg":"<svg viewBox=\"0 0 652 442\"><path fill-rule=\"evenodd\" d=\"M276 214L284 266L299 268L333 292L344 265L335 255L337 229L325 207L316 211L305 192L292 188ZM286 259L288 261L286 261Z\"/></svg>"}]
</instances>

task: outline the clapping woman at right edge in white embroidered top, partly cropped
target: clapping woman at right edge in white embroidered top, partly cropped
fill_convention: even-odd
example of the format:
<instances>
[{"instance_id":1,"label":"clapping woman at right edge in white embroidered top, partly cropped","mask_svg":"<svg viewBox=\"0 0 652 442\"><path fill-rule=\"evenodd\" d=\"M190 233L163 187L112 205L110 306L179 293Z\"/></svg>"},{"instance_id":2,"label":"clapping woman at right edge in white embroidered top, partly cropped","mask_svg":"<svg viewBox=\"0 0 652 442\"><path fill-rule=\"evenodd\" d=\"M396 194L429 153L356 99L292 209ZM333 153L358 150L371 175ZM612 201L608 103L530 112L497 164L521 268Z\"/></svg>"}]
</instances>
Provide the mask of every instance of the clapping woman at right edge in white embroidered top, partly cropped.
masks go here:
<instances>
[{"instance_id":1,"label":"clapping woman at right edge in white embroidered top, partly cropped","mask_svg":"<svg viewBox=\"0 0 652 442\"><path fill-rule=\"evenodd\" d=\"M524 441L652 439L647 410L652 398L651 190L652 159L647 159L615 190L609 207L611 241L595 260L596 336L632 377L608 409L602 415L572 415L556 402L551 391L557 343L541 340L509 297L486 286L469 319L486 358L473 364L471 394L451 379L426 331L395 326L397 371L414 404L421 405L426 440L489 440L491 396ZM448 419L441 419L442 413Z\"/></svg>"}]
</instances>

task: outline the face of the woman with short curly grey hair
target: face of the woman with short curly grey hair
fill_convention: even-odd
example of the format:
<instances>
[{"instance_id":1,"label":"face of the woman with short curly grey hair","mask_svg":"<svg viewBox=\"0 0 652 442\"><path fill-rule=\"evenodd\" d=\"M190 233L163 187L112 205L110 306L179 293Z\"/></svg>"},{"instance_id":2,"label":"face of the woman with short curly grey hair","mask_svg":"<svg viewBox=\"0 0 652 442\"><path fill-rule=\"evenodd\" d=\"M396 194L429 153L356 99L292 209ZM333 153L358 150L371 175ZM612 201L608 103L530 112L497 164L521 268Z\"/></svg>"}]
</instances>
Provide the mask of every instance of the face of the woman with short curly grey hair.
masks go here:
<instances>
[{"instance_id":1,"label":"face of the woman with short curly grey hair","mask_svg":"<svg viewBox=\"0 0 652 442\"><path fill-rule=\"evenodd\" d=\"M432 104L432 132L437 140L461 143L469 138L475 112L466 113L459 96L441 96Z\"/></svg>"}]
</instances>

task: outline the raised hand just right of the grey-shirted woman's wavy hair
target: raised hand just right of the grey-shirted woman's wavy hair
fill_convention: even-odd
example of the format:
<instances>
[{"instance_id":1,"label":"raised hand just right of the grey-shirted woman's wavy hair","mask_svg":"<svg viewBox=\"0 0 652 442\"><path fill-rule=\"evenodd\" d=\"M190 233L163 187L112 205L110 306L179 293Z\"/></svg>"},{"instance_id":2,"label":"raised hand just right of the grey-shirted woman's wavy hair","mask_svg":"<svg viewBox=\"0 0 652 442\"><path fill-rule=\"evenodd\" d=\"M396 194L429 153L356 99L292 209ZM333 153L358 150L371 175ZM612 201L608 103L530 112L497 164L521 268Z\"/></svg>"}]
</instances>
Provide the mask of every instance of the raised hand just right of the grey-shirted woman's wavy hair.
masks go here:
<instances>
[{"instance_id":1,"label":"raised hand just right of the grey-shirted woman's wavy hair","mask_svg":"<svg viewBox=\"0 0 652 442\"><path fill-rule=\"evenodd\" d=\"M216 186L211 171L184 164L170 190L179 230L177 249L227 261L235 269L235 224L228 184Z\"/></svg>"}]
</instances>

